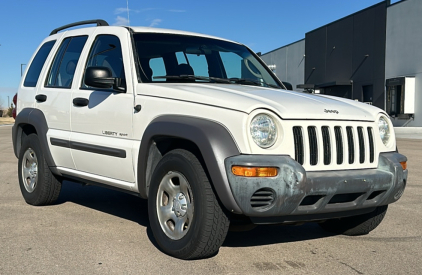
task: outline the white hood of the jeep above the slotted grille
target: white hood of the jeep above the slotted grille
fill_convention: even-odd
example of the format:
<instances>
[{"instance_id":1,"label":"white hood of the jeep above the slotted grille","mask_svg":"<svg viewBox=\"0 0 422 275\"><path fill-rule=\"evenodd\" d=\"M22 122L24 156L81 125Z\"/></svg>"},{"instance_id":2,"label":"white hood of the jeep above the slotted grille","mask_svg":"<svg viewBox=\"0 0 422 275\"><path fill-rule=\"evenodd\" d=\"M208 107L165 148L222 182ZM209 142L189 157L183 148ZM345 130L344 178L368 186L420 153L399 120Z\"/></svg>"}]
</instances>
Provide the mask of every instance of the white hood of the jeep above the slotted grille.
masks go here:
<instances>
[{"instance_id":1,"label":"white hood of the jeep above the slotted grille","mask_svg":"<svg viewBox=\"0 0 422 275\"><path fill-rule=\"evenodd\" d=\"M250 113L270 109L282 119L374 121L382 110L334 96L236 84L138 84L137 93L213 105Z\"/></svg>"}]
</instances>

